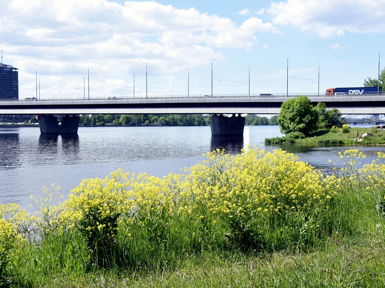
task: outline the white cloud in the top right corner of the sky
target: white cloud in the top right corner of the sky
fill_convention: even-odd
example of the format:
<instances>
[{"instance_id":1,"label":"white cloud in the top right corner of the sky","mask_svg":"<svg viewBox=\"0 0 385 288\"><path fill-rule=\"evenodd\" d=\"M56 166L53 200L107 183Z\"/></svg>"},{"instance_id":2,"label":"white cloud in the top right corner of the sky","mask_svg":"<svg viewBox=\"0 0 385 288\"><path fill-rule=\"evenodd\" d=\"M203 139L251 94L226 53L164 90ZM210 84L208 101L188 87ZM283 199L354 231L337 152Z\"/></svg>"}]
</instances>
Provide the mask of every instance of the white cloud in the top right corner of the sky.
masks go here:
<instances>
[{"instance_id":1,"label":"white cloud in the top right corner of the sky","mask_svg":"<svg viewBox=\"0 0 385 288\"><path fill-rule=\"evenodd\" d=\"M272 3L268 13L275 25L294 25L321 38L385 32L385 0L287 0Z\"/></svg>"}]
</instances>

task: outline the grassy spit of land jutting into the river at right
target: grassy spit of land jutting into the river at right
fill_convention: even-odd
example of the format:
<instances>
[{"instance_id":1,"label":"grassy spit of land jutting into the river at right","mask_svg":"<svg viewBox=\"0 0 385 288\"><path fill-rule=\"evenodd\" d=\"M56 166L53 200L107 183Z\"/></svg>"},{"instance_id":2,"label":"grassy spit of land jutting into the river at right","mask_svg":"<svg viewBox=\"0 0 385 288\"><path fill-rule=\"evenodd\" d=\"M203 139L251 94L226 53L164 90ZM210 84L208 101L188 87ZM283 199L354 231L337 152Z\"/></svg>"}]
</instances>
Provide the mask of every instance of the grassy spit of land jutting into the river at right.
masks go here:
<instances>
[{"instance_id":1,"label":"grassy spit of land jutting into the river at right","mask_svg":"<svg viewBox=\"0 0 385 288\"><path fill-rule=\"evenodd\" d=\"M358 131L358 139L356 132ZM342 128L319 129L305 137L303 133L292 132L284 137L266 138L265 144L306 144L306 145L384 145L385 129L378 126L370 128L351 128L344 124Z\"/></svg>"}]
</instances>

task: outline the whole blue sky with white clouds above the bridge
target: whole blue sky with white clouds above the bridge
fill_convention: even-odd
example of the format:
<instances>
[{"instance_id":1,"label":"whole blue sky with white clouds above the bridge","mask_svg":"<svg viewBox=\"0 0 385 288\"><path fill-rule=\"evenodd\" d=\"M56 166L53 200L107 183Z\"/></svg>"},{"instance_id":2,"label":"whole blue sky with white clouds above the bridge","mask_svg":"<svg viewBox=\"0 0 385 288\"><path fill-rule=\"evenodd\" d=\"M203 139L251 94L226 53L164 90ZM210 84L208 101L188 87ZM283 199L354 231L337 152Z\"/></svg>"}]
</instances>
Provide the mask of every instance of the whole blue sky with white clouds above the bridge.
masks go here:
<instances>
[{"instance_id":1,"label":"whole blue sky with white clouds above the bridge","mask_svg":"<svg viewBox=\"0 0 385 288\"><path fill-rule=\"evenodd\" d=\"M324 94L377 79L384 36L385 0L0 0L19 99Z\"/></svg>"}]
</instances>

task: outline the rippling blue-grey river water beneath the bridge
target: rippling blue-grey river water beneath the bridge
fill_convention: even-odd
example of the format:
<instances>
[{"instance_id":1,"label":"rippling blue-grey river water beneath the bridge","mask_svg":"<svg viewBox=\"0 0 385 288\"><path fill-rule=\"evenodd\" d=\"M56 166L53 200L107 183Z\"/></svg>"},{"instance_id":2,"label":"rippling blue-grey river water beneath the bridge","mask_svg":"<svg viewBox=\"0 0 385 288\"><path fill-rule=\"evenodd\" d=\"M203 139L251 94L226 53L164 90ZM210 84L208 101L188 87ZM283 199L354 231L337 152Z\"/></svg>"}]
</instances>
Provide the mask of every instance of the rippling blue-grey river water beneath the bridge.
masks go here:
<instances>
[{"instance_id":1,"label":"rippling blue-grey river water beneath the bridge","mask_svg":"<svg viewBox=\"0 0 385 288\"><path fill-rule=\"evenodd\" d=\"M40 198L43 186L61 186L65 196L82 179L125 172L164 176L179 173L217 148L238 154L250 145L272 151L265 138L282 136L278 126L246 126L241 138L212 137L206 127L79 127L77 137L45 136L37 127L0 128L0 204L27 208L30 195ZM350 147L282 146L318 169L330 170L338 152ZM358 147L366 162L382 146Z\"/></svg>"}]
</instances>

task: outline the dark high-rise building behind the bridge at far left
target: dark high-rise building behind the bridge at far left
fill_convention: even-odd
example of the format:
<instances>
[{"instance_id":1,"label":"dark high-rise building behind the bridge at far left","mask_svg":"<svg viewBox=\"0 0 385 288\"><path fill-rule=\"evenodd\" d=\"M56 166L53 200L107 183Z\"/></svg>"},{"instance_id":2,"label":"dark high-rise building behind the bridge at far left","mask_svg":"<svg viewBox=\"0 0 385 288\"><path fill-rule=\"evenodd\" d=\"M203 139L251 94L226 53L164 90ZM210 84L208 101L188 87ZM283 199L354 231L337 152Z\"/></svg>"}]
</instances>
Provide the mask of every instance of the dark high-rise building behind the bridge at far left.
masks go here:
<instances>
[{"instance_id":1,"label":"dark high-rise building behind the bridge at far left","mask_svg":"<svg viewBox=\"0 0 385 288\"><path fill-rule=\"evenodd\" d=\"M19 72L11 65L0 63L0 100L19 100Z\"/></svg>"}]
</instances>

